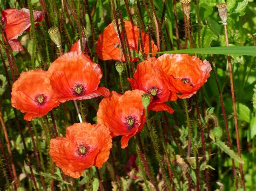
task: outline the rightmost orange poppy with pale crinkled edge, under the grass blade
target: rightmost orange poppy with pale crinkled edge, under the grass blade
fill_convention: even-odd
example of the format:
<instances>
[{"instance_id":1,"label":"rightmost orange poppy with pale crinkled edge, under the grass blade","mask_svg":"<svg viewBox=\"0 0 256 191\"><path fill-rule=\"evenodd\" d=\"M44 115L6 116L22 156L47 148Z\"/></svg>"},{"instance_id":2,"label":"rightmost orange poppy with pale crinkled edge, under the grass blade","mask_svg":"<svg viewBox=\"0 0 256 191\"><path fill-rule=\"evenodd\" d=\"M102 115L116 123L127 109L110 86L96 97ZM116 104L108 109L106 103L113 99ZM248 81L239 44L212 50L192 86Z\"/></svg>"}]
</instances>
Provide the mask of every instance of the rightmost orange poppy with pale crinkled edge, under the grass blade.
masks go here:
<instances>
[{"instance_id":1,"label":"rightmost orange poppy with pale crinkled edge, under the grass blade","mask_svg":"<svg viewBox=\"0 0 256 191\"><path fill-rule=\"evenodd\" d=\"M197 93L212 70L207 60L187 54L164 54L155 62L172 91L171 100L189 98Z\"/></svg>"}]
</instances>

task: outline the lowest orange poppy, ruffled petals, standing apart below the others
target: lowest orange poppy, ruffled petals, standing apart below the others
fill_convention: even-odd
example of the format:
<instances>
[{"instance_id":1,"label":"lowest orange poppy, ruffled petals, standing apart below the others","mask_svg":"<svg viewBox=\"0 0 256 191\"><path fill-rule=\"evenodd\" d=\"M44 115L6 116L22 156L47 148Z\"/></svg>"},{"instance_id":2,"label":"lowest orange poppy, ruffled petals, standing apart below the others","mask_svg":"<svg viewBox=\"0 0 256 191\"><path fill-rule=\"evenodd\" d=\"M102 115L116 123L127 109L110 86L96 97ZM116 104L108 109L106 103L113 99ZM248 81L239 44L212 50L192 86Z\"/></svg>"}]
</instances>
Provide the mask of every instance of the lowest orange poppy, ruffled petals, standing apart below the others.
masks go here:
<instances>
[{"instance_id":1,"label":"lowest orange poppy, ruffled petals, standing apart below the others","mask_svg":"<svg viewBox=\"0 0 256 191\"><path fill-rule=\"evenodd\" d=\"M51 139L50 155L64 174L79 178L86 168L102 167L111 147L110 131L105 125L75 123L66 129L65 137Z\"/></svg>"}]
</instances>

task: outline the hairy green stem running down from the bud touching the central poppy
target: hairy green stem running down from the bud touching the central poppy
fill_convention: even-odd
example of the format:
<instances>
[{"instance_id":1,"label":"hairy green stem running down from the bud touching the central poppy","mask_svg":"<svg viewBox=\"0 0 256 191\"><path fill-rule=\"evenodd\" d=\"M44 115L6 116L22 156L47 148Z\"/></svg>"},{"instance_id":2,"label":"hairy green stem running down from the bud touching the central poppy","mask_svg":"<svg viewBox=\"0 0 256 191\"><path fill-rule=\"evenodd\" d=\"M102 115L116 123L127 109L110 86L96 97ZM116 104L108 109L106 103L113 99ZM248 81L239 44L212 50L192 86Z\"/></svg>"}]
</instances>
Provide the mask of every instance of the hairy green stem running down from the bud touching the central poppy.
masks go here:
<instances>
[{"instance_id":1,"label":"hairy green stem running down from the bud touching the central poppy","mask_svg":"<svg viewBox=\"0 0 256 191\"><path fill-rule=\"evenodd\" d=\"M167 186L169 187L169 189L171 190L172 189L172 186L171 186L171 183L169 181L169 178L165 172L165 168L164 168L164 165L162 164L161 162L161 155L160 155L160 152L159 152L159 148L158 148L158 145L157 145L157 135L156 133L154 132L154 126L151 126L151 123L149 121L149 116L147 115L147 109L145 108L145 116L146 116L146 124L147 124L147 128L149 128L150 130L150 137L151 137L151 140L153 142L153 146L154 146L154 150L156 152L156 158L158 160L158 164L159 164L159 167L161 168L161 170L163 171L163 175L164 175L164 178L165 178L165 182L167 183Z\"/></svg>"}]
</instances>

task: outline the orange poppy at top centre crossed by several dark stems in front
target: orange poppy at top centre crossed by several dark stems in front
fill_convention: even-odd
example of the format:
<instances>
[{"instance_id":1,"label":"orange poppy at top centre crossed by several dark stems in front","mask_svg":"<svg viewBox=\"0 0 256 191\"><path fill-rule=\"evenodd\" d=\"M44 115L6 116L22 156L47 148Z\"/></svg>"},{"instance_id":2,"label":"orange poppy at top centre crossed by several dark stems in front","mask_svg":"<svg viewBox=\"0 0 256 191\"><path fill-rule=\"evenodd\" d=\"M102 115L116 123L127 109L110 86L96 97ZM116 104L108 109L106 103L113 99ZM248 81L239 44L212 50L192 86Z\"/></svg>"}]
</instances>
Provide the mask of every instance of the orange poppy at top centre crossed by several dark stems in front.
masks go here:
<instances>
[{"instance_id":1,"label":"orange poppy at top centre crossed by several dark stems in front","mask_svg":"<svg viewBox=\"0 0 256 191\"><path fill-rule=\"evenodd\" d=\"M127 39L129 41L129 47L131 50L136 51L137 53L142 52L142 48L138 49L139 45L139 27L137 25L132 24L129 21L125 21L125 31L127 35ZM146 55L150 53L149 47L149 36L142 31L142 41L144 52ZM154 44L154 41L151 40L152 52L158 52L157 46ZM100 34L98 38L98 43L96 45L96 50L98 57L102 60L119 60L125 61L123 51L121 49L120 40L116 30L114 29L114 25L109 24L102 34ZM137 61L138 57L133 58L133 61Z\"/></svg>"}]
</instances>

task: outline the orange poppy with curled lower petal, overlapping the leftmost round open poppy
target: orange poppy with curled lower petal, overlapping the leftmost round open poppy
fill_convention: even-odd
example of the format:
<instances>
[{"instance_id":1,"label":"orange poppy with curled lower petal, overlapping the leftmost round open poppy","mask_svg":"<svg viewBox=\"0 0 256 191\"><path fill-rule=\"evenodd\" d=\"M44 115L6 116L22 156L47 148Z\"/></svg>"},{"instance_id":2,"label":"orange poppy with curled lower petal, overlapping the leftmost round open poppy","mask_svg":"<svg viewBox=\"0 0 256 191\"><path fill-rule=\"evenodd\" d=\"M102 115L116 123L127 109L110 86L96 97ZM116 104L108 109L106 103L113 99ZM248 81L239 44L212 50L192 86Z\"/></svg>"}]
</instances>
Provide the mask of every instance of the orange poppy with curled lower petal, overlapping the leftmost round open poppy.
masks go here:
<instances>
[{"instance_id":1,"label":"orange poppy with curled lower petal, overlapping the leftmost round open poppy","mask_svg":"<svg viewBox=\"0 0 256 191\"><path fill-rule=\"evenodd\" d=\"M98 87L102 69L82 52L59 56L49 67L48 73L56 101L87 100L110 94L107 88Z\"/></svg>"}]
</instances>

